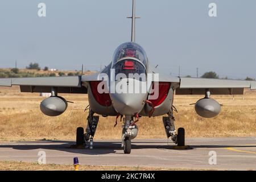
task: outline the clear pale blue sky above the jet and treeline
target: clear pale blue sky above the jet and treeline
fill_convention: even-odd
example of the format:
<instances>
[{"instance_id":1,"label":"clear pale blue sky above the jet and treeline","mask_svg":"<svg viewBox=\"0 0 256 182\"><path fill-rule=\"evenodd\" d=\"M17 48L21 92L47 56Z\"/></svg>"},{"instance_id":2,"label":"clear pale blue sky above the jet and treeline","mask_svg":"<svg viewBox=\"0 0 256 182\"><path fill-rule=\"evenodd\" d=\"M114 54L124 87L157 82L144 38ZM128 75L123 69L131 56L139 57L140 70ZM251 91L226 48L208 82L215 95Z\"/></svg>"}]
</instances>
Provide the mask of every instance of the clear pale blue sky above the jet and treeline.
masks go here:
<instances>
[{"instance_id":1,"label":"clear pale blue sky above the jet and treeline","mask_svg":"<svg viewBox=\"0 0 256 182\"><path fill-rule=\"evenodd\" d=\"M39 18L38 3L47 6ZM217 4L217 17L208 15ZM131 0L1 0L0 67L30 62L57 69L97 70L130 40ZM215 71L256 78L256 1L137 0L136 42L152 64L177 75Z\"/></svg>"}]
</instances>

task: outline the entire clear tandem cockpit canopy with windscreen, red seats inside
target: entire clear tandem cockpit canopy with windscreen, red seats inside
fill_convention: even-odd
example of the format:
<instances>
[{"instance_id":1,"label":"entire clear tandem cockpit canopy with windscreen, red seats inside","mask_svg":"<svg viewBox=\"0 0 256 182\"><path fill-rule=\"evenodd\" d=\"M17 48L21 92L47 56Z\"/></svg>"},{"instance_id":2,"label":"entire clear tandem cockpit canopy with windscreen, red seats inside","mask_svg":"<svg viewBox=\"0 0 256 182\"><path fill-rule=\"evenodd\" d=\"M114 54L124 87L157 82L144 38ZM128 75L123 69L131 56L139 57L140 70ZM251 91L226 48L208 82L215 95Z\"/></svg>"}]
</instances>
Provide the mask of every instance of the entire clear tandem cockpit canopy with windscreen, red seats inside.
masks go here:
<instances>
[{"instance_id":1,"label":"entire clear tandem cockpit canopy with windscreen, red seats inside","mask_svg":"<svg viewBox=\"0 0 256 182\"><path fill-rule=\"evenodd\" d=\"M129 76L129 73L146 74L146 52L137 43L123 43L114 52L112 68L115 69L115 75L118 73L124 73L126 76Z\"/></svg>"}]
</instances>

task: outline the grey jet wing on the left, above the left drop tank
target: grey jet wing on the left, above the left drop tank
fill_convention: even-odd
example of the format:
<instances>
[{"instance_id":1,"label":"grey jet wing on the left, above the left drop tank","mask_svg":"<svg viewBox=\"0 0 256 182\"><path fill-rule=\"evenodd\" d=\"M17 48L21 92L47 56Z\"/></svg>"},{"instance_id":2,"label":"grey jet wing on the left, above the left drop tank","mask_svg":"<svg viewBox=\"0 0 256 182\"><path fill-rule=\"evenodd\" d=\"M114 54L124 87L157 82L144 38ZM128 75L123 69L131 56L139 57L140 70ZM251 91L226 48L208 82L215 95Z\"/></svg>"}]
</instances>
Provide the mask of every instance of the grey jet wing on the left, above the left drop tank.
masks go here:
<instances>
[{"instance_id":1,"label":"grey jet wing on the left, above the left drop tank","mask_svg":"<svg viewBox=\"0 0 256 182\"><path fill-rule=\"evenodd\" d=\"M87 93L81 77L0 78L0 86L19 85L20 92L51 93L51 88L55 87L58 93Z\"/></svg>"}]
</instances>

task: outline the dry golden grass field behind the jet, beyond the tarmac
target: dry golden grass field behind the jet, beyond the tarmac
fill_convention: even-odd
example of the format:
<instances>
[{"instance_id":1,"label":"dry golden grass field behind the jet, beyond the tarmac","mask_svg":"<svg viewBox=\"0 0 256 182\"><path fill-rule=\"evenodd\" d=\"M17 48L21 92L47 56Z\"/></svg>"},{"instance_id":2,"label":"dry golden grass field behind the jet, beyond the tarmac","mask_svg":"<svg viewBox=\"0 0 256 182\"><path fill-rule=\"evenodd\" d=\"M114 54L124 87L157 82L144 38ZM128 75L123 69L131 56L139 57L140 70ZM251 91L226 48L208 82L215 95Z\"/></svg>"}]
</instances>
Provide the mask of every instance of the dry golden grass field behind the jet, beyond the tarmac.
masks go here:
<instances>
[{"instance_id":1,"label":"dry golden grass field behind the jet, beyond the tarmac","mask_svg":"<svg viewBox=\"0 0 256 182\"><path fill-rule=\"evenodd\" d=\"M20 93L19 87L0 88L0 140L75 140L76 128L86 125L87 95L60 94L68 101L67 111L47 117L39 109L44 99L38 93ZM256 92L244 96L212 96L222 106L212 119L199 117L193 106L203 96L175 96L176 127L184 127L186 137L256 136ZM96 139L120 139L122 123L114 127L115 117L100 117ZM162 117L141 118L138 138L166 138Z\"/></svg>"}]
</instances>

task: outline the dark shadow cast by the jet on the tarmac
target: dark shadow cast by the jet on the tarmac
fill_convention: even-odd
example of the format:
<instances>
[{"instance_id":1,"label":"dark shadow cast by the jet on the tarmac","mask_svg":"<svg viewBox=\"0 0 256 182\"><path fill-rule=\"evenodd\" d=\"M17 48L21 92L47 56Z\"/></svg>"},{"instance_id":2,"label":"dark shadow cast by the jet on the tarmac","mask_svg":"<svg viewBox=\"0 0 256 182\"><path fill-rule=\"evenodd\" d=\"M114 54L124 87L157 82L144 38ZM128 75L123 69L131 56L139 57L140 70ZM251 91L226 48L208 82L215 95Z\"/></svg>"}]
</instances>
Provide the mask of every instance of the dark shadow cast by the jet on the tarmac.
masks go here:
<instances>
[{"instance_id":1,"label":"dark shadow cast by the jet on the tarmac","mask_svg":"<svg viewBox=\"0 0 256 182\"><path fill-rule=\"evenodd\" d=\"M26 144L22 144L26 143ZM30 144L31 143L31 144ZM143 144L146 143L146 144ZM177 149L174 144L164 145L159 143L166 142L133 142L133 149L153 149L157 148L159 150L193 150L196 148L247 148L256 147L248 145L191 145L186 149ZM0 148L13 148L15 150L59 150L75 154L86 154L86 155L101 155L101 154L123 154L121 148L121 142L94 142L93 149L88 148L70 148L74 144L71 141L60 141L60 140L47 140L38 142L17 142L17 144L1 144Z\"/></svg>"}]
</instances>

